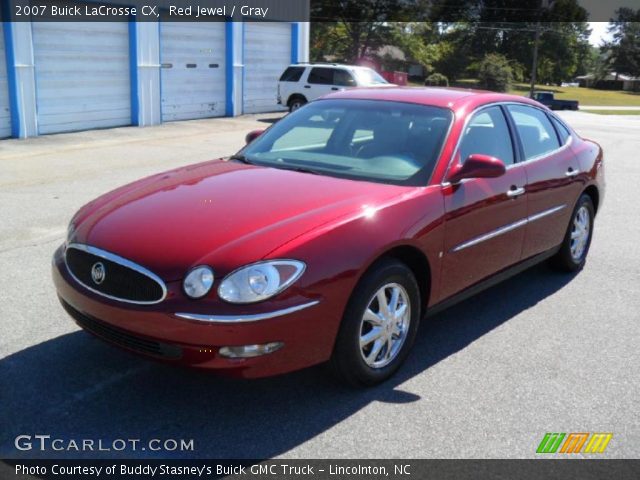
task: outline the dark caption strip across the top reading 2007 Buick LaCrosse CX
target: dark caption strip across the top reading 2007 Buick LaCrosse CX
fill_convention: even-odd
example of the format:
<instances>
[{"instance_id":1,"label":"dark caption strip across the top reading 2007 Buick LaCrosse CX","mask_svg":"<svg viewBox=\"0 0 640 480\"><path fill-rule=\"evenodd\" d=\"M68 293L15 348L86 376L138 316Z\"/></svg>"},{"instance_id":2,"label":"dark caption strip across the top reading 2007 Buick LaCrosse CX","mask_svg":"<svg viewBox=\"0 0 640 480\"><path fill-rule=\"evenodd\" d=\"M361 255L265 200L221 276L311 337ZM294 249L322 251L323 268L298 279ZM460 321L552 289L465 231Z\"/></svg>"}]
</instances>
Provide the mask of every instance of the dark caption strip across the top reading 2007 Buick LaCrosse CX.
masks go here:
<instances>
[{"instance_id":1,"label":"dark caption strip across the top reading 2007 Buick LaCrosse CX","mask_svg":"<svg viewBox=\"0 0 640 480\"><path fill-rule=\"evenodd\" d=\"M11 22L608 22L640 0L2 0Z\"/></svg>"}]
</instances>

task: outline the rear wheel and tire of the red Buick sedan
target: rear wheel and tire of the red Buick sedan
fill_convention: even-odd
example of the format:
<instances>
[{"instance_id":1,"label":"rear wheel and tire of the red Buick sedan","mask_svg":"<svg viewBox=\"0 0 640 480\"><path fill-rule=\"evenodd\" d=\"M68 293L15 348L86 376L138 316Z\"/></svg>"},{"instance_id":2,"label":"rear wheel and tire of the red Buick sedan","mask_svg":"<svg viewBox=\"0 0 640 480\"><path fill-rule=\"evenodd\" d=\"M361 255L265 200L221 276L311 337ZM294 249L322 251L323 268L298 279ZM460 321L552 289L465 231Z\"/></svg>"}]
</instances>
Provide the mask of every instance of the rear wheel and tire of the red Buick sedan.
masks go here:
<instances>
[{"instance_id":1,"label":"rear wheel and tire of the red Buick sedan","mask_svg":"<svg viewBox=\"0 0 640 480\"><path fill-rule=\"evenodd\" d=\"M591 197L583 193L573 209L560 250L552 258L552 265L556 269L564 272L582 270L593 238L594 217L595 209Z\"/></svg>"}]
</instances>

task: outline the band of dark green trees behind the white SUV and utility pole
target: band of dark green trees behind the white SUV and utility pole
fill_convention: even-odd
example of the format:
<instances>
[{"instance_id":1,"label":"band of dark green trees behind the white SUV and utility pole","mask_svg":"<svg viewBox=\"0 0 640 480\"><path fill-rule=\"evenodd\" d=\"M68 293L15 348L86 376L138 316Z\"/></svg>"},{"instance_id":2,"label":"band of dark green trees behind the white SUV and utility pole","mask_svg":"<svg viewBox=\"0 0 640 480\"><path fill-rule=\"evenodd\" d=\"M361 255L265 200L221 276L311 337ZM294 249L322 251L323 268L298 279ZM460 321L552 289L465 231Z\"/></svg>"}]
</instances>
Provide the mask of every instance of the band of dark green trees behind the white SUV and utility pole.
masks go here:
<instances>
[{"instance_id":1,"label":"band of dark green trees behind the white SUV and utility pole","mask_svg":"<svg viewBox=\"0 0 640 480\"><path fill-rule=\"evenodd\" d=\"M554 0L540 10L540 0L313 0L311 58L356 62L392 45L406 62L455 82L475 75L495 53L508 58L514 79L523 81L531 77L539 19L539 78L559 83L585 73L593 60L587 13L578 1Z\"/></svg>"}]
</instances>

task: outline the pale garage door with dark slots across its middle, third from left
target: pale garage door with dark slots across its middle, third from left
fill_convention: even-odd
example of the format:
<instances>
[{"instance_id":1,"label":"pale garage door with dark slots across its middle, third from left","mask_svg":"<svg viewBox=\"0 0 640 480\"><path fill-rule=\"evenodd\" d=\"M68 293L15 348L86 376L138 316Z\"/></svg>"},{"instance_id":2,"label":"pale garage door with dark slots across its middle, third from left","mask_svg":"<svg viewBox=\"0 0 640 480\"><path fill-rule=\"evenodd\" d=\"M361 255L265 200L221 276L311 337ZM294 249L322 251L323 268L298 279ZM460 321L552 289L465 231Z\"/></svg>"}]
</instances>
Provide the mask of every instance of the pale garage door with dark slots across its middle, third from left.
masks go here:
<instances>
[{"instance_id":1,"label":"pale garage door with dark slots across its middle, third from left","mask_svg":"<svg viewBox=\"0 0 640 480\"><path fill-rule=\"evenodd\" d=\"M160 26L162 121L225 114L223 22L163 22Z\"/></svg>"}]
</instances>

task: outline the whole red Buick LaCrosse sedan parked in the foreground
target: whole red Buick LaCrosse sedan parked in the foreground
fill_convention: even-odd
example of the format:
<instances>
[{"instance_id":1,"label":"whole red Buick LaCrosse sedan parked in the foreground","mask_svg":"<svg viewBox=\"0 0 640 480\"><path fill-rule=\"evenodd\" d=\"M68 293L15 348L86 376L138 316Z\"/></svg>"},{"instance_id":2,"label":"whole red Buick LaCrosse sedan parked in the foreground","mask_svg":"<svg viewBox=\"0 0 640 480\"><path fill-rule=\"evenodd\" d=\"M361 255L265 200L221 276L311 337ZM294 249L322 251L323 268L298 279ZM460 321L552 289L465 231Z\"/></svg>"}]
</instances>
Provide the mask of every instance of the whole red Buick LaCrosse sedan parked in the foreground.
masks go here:
<instances>
[{"instance_id":1,"label":"whole red Buick LaCrosse sedan parked in the foreground","mask_svg":"<svg viewBox=\"0 0 640 480\"><path fill-rule=\"evenodd\" d=\"M350 90L247 137L73 217L53 278L81 327L242 377L328 362L371 385L426 314L547 258L582 268L603 200L601 148L522 97Z\"/></svg>"}]
</instances>

